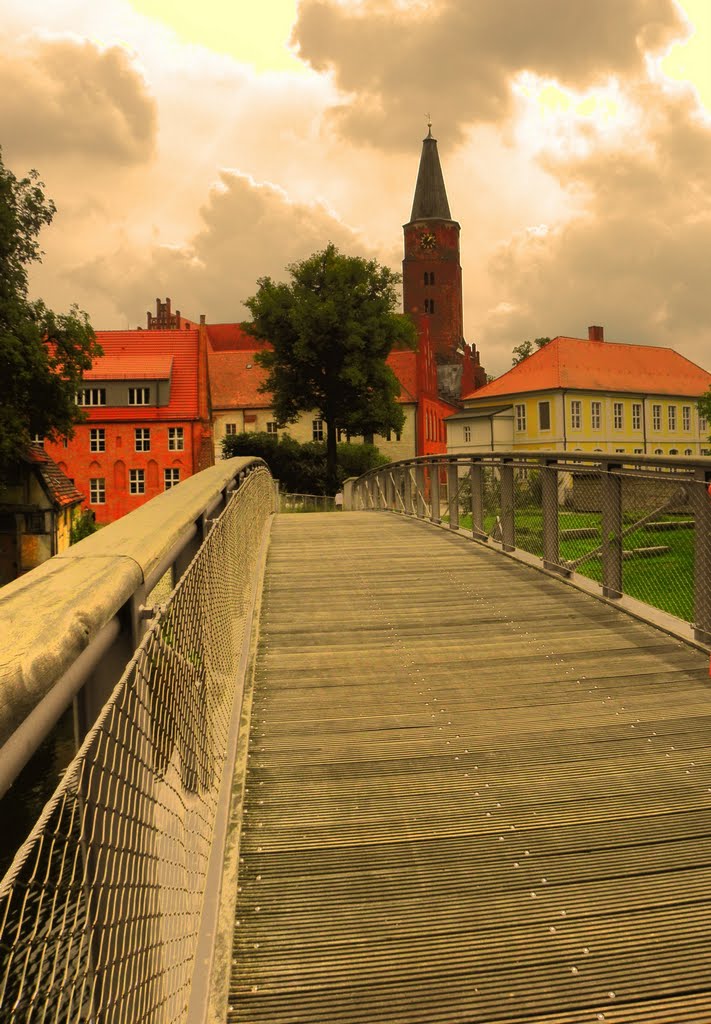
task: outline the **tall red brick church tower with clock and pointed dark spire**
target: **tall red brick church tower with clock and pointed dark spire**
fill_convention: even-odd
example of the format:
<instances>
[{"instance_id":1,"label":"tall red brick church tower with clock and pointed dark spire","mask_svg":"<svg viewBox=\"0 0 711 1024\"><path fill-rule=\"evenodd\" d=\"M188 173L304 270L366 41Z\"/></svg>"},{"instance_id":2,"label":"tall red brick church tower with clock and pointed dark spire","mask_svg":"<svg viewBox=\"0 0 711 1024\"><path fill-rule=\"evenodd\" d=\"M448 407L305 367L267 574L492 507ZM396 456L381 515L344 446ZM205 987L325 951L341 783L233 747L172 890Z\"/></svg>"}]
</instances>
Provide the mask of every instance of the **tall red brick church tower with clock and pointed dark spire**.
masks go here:
<instances>
[{"instance_id":1,"label":"tall red brick church tower with clock and pointed dark spire","mask_svg":"<svg viewBox=\"0 0 711 1024\"><path fill-rule=\"evenodd\" d=\"M448 401L458 401L462 386L472 390L487 378L475 346L464 341L460 226L450 213L431 123L422 141L412 213L403 230L404 311L427 317L440 393Z\"/></svg>"}]
</instances>

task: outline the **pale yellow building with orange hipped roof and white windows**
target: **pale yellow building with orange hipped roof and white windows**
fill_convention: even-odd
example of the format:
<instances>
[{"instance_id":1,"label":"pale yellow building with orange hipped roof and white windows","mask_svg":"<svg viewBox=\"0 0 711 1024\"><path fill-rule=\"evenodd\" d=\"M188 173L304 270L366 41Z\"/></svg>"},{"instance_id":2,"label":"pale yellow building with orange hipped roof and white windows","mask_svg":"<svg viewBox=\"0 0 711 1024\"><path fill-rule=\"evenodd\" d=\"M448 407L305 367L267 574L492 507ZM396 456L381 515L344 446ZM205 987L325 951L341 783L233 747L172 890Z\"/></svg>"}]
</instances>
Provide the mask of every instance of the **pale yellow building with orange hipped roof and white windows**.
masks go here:
<instances>
[{"instance_id":1,"label":"pale yellow building with orange hipped roof and white windows","mask_svg":"<svg viewBox=\"0 0 711 1024\"><path fill-rule=\"evenodd\" d=\"M705 455L698 399L711 374L671 348L553 338L464 398L447 420L447 451Z\"/></svg>"}]
</instances>

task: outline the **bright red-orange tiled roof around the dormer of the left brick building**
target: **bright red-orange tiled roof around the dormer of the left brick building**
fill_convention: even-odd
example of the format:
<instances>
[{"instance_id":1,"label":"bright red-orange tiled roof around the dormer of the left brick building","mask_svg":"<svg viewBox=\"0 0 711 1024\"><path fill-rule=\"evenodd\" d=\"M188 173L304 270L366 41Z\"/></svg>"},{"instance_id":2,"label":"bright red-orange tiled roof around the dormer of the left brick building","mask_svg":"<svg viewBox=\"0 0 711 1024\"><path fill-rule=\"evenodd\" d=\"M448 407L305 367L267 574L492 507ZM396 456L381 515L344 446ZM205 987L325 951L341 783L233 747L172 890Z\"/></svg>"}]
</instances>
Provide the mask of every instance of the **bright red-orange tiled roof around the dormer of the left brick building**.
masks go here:
<instances>
[{"instance_id":1,"label":"bright red-orange tiled roof around the dormer of the left brick building","mask_svg":"<svg viewBox=\"0 0 711 1024\"><path fill-rule=\"evenodd\" d=\"M167 406L142 407L139 411L129 407L101 407L86 410L89 420L106 419L109 409L114 420L135 420L139 412L141 420L194 420L198 417L198 340L199 330L183 331L97 331L96 341L103 349L90 371L90 380L116 380L101 378L101 367L106 365L112 374L122 373L124 379L135 376L147 367L152 371L161 370L164 379L165 367L171 360L170 401Z\"/></svg>"}]
</instances>

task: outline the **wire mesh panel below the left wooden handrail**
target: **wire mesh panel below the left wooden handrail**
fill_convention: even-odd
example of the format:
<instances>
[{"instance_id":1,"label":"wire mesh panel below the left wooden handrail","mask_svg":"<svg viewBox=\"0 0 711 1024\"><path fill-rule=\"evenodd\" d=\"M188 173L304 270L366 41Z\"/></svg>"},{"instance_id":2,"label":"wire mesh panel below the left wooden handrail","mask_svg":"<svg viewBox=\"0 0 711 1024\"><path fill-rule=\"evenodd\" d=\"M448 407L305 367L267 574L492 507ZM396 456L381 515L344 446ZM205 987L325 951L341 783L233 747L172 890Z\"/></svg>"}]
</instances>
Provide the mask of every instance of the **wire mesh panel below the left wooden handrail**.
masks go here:
<instances>
[{"instance_id":1,"label":"wire mesh panel below the left wooden handrail","mask_svg":"<svg viewBox=\"0 0 711 1024\"><path fill-rule=\"evenodd\" d=\"M3 1022L184 1020L273 496L231 498L0 884Z\"/></svg>"}]
</instances>

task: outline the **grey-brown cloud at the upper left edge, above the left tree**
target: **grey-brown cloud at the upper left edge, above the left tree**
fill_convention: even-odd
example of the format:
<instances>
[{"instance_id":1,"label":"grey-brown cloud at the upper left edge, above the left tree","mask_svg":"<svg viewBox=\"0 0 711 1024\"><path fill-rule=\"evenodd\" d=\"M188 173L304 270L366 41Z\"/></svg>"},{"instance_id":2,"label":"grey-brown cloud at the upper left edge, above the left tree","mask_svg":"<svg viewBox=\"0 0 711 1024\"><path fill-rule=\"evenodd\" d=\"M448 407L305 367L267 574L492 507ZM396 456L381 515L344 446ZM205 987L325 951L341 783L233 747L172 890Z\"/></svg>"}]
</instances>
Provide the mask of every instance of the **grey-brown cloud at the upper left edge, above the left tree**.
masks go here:
<instances>
[{"instance_id":1,"label":"grey-brown cloud at the upper left edge, above the left tree","mask_svg":"<svg viewBox=\"0 0 711 1024\"><path fill-rule=\"evenodd\" d=\"M74 39L33 40L0 54L0 138L33 161L82 156L121 164L145 161L156 108L120 47Z\"/></svg>"}]
</instances>

